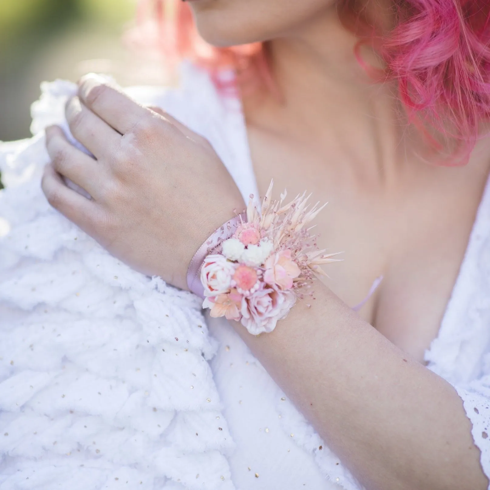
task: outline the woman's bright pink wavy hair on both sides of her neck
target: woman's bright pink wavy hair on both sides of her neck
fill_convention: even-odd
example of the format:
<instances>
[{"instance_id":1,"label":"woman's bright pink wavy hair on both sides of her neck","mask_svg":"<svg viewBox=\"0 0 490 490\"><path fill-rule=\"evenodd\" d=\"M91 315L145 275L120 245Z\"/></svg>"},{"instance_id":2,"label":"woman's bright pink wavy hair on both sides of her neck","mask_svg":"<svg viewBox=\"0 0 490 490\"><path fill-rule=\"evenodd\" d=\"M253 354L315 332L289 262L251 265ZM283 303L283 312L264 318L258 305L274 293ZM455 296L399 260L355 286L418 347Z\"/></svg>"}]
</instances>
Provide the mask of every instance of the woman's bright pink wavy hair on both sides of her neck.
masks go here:
<instances>
[{"instance_id":1,"label":"woman's bright pink wavy hair on both sides of her neck","mask_svg":"<svg viewBox=\"0 0 490 490\"><path fill-rule=\"evenodd\" d=\"M339 1L341 19L344 14L345 19L361 19L356 0ZM392 5L395 26L389 32L377 33L365 19L345 25L359 36L358 47L368 42L380 53L386 68L378 71L379 79L396 83L411 122L440 150L438 136L446 144L455 142L466 161L490 114L490 2L393 0ZM235 70L241 86L261 80L273 87L261 43L215 48L199 37L185 2L142 0L141 19L148 8L157 21L158 42L173 60L190 58L206 67L221 90L234 88L219 77L224 67ZM169 11L172 15L166 15ZM358 49L356 56L363 64Z\"/></svg>"}]
</instances>

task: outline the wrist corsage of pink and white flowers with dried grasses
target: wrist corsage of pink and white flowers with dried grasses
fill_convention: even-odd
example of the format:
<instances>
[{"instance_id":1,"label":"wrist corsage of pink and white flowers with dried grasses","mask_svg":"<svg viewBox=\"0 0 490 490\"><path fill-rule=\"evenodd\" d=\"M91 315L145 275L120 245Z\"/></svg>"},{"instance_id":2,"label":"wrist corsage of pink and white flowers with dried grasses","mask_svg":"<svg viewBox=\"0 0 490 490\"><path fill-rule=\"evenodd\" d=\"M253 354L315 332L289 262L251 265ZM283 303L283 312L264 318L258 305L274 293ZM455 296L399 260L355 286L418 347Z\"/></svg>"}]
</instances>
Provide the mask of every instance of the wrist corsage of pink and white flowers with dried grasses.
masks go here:
<instances>
[{"instance_id":1,"label":"wrist corsage of pink and white flowers with dried grasses","mask_svg":"<svg viewBox=\"0 0 490 490\"><path fill-rule=\"evenodd\" d=\"M251 196L247 221L201 267L203 308L241 321L253 335L271 332L301 296L299 288L323 273L320 265L335 261L305 228L323 206L308 210L304 194L286 205L286 193L270 202L271 191L272 182L261 212Z\"/></svg>"}]
</instances>

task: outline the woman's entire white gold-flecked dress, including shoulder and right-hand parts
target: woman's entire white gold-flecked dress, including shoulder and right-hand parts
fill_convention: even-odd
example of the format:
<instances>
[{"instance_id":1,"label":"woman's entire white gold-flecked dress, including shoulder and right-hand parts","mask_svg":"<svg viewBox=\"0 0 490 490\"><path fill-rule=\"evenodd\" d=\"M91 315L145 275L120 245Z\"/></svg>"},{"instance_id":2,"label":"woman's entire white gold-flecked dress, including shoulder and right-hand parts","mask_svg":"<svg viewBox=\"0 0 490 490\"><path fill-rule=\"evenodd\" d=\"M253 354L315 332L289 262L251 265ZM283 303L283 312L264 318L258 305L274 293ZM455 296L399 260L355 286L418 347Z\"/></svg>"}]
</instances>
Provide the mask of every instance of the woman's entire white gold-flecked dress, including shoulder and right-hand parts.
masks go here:
<instances>
[{"instance_id":1,"label":"woman's entire white gold-flecked dress, including shoulder and right-hand parts","mask_svg":"<svg viewBox=\"0 0 490 490\"><path fill-rule=\"evenodd\" d=\"M240 102L182 74L179 90L128 93L208 138L257 195ZM75 88L42 88L34 137L0 143L0 490L362 489L224 319L49 207L42 129ZM463 398L490 477L489 188L426 359Z\"/></svg>"}]
</instances>

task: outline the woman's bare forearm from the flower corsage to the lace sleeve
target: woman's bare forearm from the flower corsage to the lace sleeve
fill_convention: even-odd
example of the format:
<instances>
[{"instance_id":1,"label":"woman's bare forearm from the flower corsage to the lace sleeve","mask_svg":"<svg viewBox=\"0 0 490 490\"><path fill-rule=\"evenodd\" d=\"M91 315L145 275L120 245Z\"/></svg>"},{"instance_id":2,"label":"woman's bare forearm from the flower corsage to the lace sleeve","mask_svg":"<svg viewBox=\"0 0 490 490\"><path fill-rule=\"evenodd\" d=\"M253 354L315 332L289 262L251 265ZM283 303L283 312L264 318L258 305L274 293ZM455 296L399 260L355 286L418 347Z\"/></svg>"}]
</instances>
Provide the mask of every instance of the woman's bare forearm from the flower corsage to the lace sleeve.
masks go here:
<instances>
[{"instance_id":1,"label":"woman's bare forearm from the flower corsage to the lace sleeve","mask_svg":"<svg viewBox=\"0 0 490 490\"><path fill-rule=\"evenodd\" d=\"M237 332L369 490L486 490L454 388L320 281L270 334Z\"/></svg>"}]
</instances>

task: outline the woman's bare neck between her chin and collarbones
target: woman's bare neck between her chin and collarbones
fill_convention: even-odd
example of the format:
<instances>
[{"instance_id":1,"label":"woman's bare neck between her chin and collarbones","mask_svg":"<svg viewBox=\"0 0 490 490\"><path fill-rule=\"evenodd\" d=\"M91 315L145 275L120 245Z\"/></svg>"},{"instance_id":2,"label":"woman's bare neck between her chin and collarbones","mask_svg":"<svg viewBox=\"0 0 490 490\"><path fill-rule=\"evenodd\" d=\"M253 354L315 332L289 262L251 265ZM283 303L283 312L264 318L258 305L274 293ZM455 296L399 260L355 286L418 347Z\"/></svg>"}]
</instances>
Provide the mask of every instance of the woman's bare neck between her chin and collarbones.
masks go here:
<instances>
[{"instance_id":1,"label":"woman's bare neck between her chin and collarbones","mask_svg":"<svg viewBox=\"0 0 490 490\"><path fill-rule=\"evenodd\" d=\"M370 161L372 170L386 177L386 167L396 165L401 154L405 158L400 143L406 125L393 87L373 83L356 59L357 40L330 9L270 41L270 68L280 99L251 96L245 113L252 124L308 145L328 148L339 142L354 153L349 160ZM368 50L363 59L378 63Z\"/></svg>"}]
</instances>

